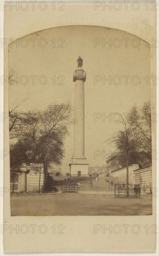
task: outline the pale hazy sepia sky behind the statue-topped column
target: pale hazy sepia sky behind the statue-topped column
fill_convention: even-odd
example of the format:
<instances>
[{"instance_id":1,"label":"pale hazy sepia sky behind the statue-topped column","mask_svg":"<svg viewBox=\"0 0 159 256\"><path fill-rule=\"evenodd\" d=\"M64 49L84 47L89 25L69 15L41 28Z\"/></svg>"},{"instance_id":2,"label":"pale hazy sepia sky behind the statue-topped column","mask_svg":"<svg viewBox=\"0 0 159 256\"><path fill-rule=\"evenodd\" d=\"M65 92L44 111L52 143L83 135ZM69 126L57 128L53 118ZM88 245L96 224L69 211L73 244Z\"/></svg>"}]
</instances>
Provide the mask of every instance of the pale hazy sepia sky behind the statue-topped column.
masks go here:
<instances>
[{"instance_id":1,"label":"pale hazy sepia sky behind the statue-topped column","mask_svg":"<svg viewBox=\"0 0 159 256\"><path fill-rule=\"evenodd\" d=\"M141 106L150 99L150 83L146 84L144 79L146 76L150 77L149 47L144 41L136 40L137 37L134 35L104 27L58 27L24 38L19 41L19 47L16 44L9 47L9 68L14 69L19 80L18 85L14 83L10 86L10 107L12 108L15 101L20 102L26 98L27 100L19 107L23 111L43 109L51 102L70 100L73 105L73 71L77 67L76 61L80 55L83 59L83 69L86 71L85 156L90 166L106 164L106 159L103 159L102 155L94 159L94 150L105 150L106 154L109 154L109 150L113 151L110 145L103 144L121 128L115 121L118 120L118 115L113 113L126 113L133 104ZM96 47L94 39L99 43ZM110 45L103 44L106 41L109 41ZM138 44L139 47L133 47ZM43 47L44 45L46 47ZM27 82L22 76L27 76ZM45 82L40 76L47 78L45 85L40 84ZM94 76L101 79L96 85ZM103 76L105 79L112 76L112 84L108 81L103 84ZM119 78L114 78L115 76L121 77L118 85L115 83L119 82ZM130 76L127 77L127 84L126 77L123 76ZM133 76L139 76L138 85L133 84L137 83ZM64 85L58 84L61 79ZM98 115L101 116L96 122L94 113L100 113ZM102 117L109 115L110 119L107 118L104 122ZM64 173L69 171L68 164L73 152L73 126L70 133L65 143L66 157L62 163Z\"/></svg>"}]
</instances>

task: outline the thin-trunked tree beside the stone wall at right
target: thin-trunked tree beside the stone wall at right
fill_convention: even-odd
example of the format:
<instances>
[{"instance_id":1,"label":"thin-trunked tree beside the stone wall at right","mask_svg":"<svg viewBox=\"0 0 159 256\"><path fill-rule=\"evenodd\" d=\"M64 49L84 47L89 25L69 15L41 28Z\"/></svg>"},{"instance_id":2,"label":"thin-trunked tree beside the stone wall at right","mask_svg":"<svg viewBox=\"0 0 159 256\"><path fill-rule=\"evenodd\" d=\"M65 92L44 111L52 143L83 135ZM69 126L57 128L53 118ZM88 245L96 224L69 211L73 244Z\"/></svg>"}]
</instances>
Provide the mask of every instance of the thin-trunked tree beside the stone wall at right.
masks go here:
<instances>
[{"instance_id":1,"label":"thin-trunked tree beside the stone wall at right","mask_svg":"<svg viewBox=\"0 0 159 256\"><path fill-rule=\"evenodd\" d=\"M127 120L120 115L120 122L123 129L116 132L108 141L115 144L118 162L121 163L123 155L126 156L126 195L129 196L129 165L132 155L133 161L138 161L140 165L146 162L145 158L147 157L151 162L150 101L145 102L140 111L136 106L133 106ZM147 154L146 157L145 153Z\"/></svg>"}]
</instances>

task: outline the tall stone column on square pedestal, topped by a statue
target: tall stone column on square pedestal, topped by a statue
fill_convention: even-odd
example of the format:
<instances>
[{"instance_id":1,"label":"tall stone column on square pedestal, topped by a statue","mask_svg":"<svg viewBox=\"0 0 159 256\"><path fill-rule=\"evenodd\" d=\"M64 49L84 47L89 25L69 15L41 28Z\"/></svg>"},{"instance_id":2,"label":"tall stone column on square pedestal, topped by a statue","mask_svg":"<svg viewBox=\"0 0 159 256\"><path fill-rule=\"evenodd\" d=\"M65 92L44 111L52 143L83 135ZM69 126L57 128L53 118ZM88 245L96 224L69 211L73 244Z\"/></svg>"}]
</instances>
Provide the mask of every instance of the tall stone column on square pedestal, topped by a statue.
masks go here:
<instances>
[{"instance_id":1,"label":"tall stone column on square pedestal, topped by a statue","mask_svg":"<svg viewBox=\"0 0 159 256\"><path fill-rule=\"evenodd\" d=\"M82 68L83 60L78 59L78 67L73 74L74 85L74 133L72 176L88 176L88 163L85 157L85 97L84 82L86 73Z\"/></svg>"}]
</instances>

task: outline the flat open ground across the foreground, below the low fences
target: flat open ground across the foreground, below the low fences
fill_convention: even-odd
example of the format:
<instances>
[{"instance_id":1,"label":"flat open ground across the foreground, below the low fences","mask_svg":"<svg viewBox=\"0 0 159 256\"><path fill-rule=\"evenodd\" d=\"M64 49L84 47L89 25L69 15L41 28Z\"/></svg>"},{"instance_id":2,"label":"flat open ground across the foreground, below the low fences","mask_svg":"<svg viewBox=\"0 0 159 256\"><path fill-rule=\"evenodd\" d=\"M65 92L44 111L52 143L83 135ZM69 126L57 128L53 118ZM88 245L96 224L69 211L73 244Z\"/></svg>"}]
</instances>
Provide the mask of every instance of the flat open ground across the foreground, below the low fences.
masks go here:
<instances>
[{"instance_id":1,"label":"flat open ground across the foreground, below the low fences","mask_svg":"<svg viewBox=\"0 0 159 256\"><path fill-rule=\"evenodd\" d=\"M12 216L113 216L151 215L152 197L131 198L109 195L62 193L12 195Z\"/></svg>"}]
</instances>

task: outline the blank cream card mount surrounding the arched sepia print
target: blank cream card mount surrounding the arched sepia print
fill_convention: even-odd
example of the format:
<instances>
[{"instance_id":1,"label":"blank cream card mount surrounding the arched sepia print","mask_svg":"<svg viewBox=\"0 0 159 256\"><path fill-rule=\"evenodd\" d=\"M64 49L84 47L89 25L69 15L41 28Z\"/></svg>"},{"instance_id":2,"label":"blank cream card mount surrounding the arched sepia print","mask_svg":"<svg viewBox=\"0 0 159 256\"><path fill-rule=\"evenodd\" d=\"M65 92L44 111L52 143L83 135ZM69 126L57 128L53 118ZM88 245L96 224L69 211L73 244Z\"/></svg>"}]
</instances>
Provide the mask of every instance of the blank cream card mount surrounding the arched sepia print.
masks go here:
<instances>
[{"instance_id":1,"label":"blank cream card mount surrounding the arched sepia print","mask_svg":"<svg viewBox=\"0 0 159 256\"><path fill-rule=\"evenodd\" d=\"M112 1L113 2L113 1ZM102 3L102 2L101 2ZM94 11L93 2L65 2L65 11L58 12L52 10L52 6L47 1L47 9L40 11L30 8L26 11L16 11L13 8L9 12L9 6L5 7L4 37L14 39L23 37L26 34L61 26L90 25L111 27L134 34L146 40L156 38L156 12L146 11L146 6L141 4L140 10L133 11L103 11L102 7ZM8 45L5 45L5 74L8 74ZM156 48L151 48L151 75L156 74ZM155 112L156 88L151 90L152 109ZM4 112L8 113L8 85L5 83L5 106ZM153 125L152 148L155 149L155 123ZM8 119L5 120L5 144L4 149L9 151ZM156 187L156 167L155 161L152 163L152 184ZM4 187L10 188L9 155L4 159ZM156 248L156 236L146 234L144 226L146 224L156 224L156 197L153 197L152 216L12 216L10 215L10 194L4 195L4 224L7 225L41 225L47 226L46 234L35 232L32 234L10 234L4 231L4 249L6 251L25 252L62 252L62 251L152 251ZM51 226L63 224L65 234L53 234ZM105 235L93 232L94 224L138 224L140 233L134 235L132 232L124 234Z\"/></svg>"}]
</instances>

